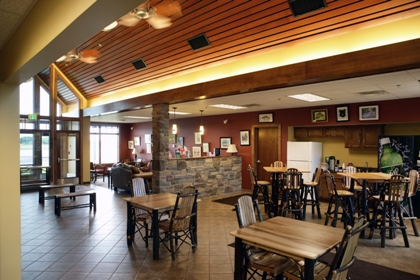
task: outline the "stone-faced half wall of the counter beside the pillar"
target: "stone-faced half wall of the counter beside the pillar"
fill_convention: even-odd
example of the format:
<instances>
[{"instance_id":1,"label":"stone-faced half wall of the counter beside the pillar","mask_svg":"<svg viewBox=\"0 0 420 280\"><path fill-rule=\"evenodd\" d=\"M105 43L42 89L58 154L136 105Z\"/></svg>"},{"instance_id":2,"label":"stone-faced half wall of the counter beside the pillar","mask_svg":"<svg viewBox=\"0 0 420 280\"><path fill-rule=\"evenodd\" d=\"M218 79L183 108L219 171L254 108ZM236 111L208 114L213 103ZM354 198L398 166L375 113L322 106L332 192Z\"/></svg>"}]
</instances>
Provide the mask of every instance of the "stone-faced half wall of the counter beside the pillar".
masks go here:
<instances>
[{"instance_id":1,"label":"stone-faced half wall of the counter beside the pillar","mask_svg":"<svg viewBox=\"0 0 420 280\"><path fill-rule=\"evenodd\" d=\"M160 192L178 192L195 186L200 197L218 196L242 189L242 157L170 159L160 172Z\"/></svg>"}]
</instances>

